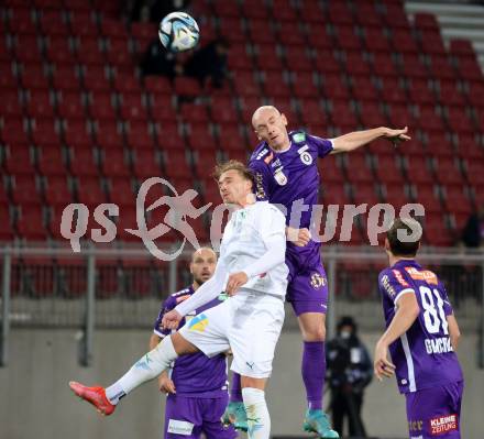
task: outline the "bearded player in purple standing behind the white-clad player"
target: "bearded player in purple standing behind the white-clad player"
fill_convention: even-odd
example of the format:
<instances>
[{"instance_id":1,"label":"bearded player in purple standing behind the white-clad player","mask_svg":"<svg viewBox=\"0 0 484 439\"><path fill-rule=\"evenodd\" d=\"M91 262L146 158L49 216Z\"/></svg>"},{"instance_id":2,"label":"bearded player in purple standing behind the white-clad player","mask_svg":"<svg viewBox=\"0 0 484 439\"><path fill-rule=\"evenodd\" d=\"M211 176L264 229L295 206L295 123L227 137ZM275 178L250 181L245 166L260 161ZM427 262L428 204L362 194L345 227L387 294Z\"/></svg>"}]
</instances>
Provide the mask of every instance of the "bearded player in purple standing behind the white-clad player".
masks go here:
<instances>
[{"instance_id":1,"label":"bearded player in purple standing behind the white-clad player","mask_svg":"<svg viewBox=\"0 0 484 439\"><path fill-rule=\"evenodd\" d=\"M150 350L170 333L162 327L163 316L190 297L208 281L213 275L216 265L217 255L213 250L201 248L194 252L190 262L194 282L187 288L172 294L164 301L150 339ZM219 305L224 297L220 295L188 314L182 320L180 327L198 314ZM169 374L163 372L160 375L160 389L168 394L165 408L165 439L199 439L202 432L207 439L238 437L232 426L223 427L220 421L229 399L227 370L227 358L223 353L208 358L202 352L198 352L180 356L175 361Z\"/></svg>"}]
</instances>

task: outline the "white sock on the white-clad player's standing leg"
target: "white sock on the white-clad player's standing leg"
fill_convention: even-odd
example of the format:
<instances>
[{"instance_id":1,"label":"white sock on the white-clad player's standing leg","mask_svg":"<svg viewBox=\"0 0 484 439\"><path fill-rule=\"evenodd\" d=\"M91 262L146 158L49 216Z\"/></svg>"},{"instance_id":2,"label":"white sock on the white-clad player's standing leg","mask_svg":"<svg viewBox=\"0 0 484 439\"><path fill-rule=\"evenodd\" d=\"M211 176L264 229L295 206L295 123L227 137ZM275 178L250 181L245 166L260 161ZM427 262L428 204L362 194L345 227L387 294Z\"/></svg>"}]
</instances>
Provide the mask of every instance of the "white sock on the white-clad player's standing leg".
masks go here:
<instances>
[{"instance_id":1,"label":"white sock on the white-clad player's standing leg","mask_svg":"<svg viewBox=\"0 0 484 439\"><path fill-rule=\"evenodd\" d=\"M270 439L271 416L265 402L265 392L258 388L242 388L242 399L248 413L249 439Z\"/></svg>"}]
</instances>

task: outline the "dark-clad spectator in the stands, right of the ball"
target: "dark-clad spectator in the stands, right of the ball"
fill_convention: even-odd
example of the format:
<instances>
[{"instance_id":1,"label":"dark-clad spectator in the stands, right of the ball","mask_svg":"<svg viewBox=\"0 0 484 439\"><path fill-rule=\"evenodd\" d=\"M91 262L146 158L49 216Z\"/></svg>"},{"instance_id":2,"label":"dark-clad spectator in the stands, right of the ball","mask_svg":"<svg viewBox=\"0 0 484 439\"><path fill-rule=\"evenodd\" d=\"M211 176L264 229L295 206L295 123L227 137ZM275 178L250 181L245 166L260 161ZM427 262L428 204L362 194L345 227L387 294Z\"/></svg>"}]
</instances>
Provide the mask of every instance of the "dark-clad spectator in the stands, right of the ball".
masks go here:
<instances>
[{"instance_id":1,"label":"dark-clad spectator in the stands, right of the ball","mask_svg":"<svg viewBox=\"0 0 484 439\"><path fill-rule=\"evenodd\" d=\"M221 88L227 75L229 42L221 37L196 51L185 64L185 74L206 85L210 78L213 87Z\"/></svg>"}]
</instances>

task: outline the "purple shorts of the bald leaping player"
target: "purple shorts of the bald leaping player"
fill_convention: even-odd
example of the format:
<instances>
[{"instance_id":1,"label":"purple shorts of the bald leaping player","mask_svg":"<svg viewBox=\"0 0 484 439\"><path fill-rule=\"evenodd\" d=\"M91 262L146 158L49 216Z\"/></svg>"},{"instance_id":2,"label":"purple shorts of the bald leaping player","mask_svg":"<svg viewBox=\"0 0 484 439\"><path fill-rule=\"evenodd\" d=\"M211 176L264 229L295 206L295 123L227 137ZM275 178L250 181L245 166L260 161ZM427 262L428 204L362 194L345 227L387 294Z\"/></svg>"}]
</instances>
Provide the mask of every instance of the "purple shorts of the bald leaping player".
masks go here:
<instances>
[{"instance_id":1,"label":"purple shorts of the bald leaping player","mask_svg":"<svg viewBox=\"0 0 484 439\"><path fill-rule=\"evenodd\" d=\"M287 301L296 316L305 312L326 314L328 307L328 278L318 257L314 264L301 266L293 255L286 255L289 268Z\"/></svg>"}]
</instances>

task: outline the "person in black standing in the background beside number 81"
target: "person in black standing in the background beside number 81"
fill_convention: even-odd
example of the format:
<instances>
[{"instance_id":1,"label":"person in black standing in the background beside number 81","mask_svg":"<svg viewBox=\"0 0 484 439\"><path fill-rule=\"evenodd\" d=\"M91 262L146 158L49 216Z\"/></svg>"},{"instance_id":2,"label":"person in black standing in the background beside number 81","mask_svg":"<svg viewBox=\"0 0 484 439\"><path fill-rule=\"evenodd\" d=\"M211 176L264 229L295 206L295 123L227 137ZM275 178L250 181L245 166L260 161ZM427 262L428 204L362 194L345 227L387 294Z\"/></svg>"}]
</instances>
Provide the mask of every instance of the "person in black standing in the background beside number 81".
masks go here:
<instances>
[{"instance_id":1,"label":"person in black standing in the background beside number 81","mask_svg":"<svg viewBox=\"0 0 484 439\"><path fill-rule=\"evenodd\" d=\"M373 365L369 351L358 337L353 318L338 322L337 337L327 345L327 378L331 389L334 430L342 433L348 417L350 436L366 437L361 419L364 388L372 381Z\"/></svg>"}]
</instances>

